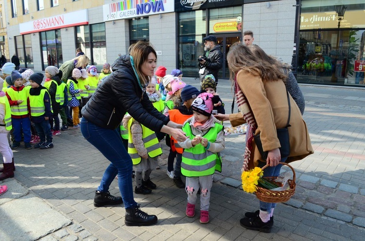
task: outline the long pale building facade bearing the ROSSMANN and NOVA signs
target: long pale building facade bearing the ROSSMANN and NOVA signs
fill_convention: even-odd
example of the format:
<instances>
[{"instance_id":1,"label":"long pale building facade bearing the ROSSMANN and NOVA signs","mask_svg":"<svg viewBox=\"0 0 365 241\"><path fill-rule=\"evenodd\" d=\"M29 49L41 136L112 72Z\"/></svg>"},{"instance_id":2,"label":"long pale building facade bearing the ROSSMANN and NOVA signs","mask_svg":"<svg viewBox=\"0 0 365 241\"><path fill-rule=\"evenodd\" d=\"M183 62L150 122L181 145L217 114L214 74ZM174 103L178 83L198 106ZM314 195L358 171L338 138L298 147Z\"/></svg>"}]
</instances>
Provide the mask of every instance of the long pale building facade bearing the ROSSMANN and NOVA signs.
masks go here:
<instances>
[{"instance_id":1,"label":"long pale building facade bearing the ROSSMANN and NOVA signs","mask_svg":"<svg viewBox=\"0 0 365 241\"><path fill-rule=\"evenodd\" d=\"M291 63L295 29L293 0L3 0L8 59L17 54L21 67L42 71L75 57L76 48L99 71L130 44L148 40L167 72L179 68L198 77L202 38L214 34L224 56L220 78L228 78L225 56L254 32L254 43ZM1 34L0 34L1 35ZM1 39L0 39L1 40ZM1 41L0 41L1 44Z\"/></svg>"}]
</instances>

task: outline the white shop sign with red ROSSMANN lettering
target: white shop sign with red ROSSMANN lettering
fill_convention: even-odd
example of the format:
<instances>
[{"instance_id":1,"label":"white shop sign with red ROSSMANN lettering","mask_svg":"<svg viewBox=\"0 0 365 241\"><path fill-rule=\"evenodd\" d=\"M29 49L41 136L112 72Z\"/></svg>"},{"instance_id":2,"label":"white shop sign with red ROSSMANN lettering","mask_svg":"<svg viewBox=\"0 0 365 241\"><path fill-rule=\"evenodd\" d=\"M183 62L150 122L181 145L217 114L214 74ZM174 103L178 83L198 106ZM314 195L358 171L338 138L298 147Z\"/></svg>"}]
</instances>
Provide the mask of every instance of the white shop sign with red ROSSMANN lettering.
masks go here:
<instances>
[{"instance_id":1,"label":"white shop sign with red ROSSMANN lettering","mask_svg":"<svg viewBox=\"0 0 365 241\"><path fill-rule=\"evenodd\" d=\"M30 22L20 23L20 34L30 34L53 29L67 28L88 24L88 10L80 10L53 17L45 17Z\"/></svg>"}]
</instances>

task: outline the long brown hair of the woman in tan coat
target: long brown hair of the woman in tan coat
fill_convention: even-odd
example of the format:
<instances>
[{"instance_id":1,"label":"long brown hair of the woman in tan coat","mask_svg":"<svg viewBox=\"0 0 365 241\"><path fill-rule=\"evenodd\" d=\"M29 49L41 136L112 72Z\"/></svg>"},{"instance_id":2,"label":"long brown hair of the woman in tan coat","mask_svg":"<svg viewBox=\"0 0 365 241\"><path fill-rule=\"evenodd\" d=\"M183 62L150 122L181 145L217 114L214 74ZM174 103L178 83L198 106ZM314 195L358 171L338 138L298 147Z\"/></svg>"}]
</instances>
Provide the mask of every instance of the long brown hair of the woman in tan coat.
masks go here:
<instances>
[{"instance_id":1,"label":"long brown hair of the woman in tan coat","mask_svg":"<svg viewBox=\"0 0 365 241\"><path fill-rule=\"evenodd\" d=\"M230 78L234 80L239 70L254 76L260 76L262 81L276 81L286 76L270 61L264 61L255 56L249 47L243 43L234 43L227 54Z\"/></svg>"}]
</instances>

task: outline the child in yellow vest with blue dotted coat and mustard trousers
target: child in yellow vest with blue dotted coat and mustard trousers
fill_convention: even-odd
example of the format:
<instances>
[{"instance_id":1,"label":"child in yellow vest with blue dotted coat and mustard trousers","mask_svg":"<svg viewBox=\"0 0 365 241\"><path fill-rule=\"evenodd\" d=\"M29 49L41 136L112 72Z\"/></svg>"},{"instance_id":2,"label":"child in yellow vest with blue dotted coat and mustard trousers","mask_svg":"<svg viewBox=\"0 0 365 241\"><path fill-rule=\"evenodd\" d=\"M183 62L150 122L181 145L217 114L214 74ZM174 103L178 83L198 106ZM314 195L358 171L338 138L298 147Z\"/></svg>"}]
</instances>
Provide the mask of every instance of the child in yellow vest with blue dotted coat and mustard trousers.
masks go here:
<instances>
[{"instance_id":1,"label":"child in yellow vest with blue dotted coat and mustard trousers","mask_svg":"<svg viewBox=\"0 0 365 241\"><path fill-rule=\"evenodd\" d=\"M77 86L78 79L81 77L81 71L80 69L73 69L72 71L72 77L67 80L67 94L68 94L68 105L72 108L73 112L73 128L80 128L80 119L78 117L79 114L79 108L80 105L79 100L81 100L80 93L82 93L84 90L79 89Z\"/></svg>"}]
</instances>

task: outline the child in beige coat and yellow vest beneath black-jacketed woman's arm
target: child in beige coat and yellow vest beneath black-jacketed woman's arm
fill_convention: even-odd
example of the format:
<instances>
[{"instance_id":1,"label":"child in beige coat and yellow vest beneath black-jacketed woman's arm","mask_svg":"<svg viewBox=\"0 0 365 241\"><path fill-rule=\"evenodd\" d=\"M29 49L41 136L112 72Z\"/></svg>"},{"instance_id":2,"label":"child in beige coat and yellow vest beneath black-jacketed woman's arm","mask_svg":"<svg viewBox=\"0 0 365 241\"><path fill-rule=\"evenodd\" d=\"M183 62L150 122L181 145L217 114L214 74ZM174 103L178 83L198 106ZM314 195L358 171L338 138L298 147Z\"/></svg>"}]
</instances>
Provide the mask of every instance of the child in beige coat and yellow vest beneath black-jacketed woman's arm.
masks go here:
<instances>
[{"instance_id":1,"label":"child in beige coat and yellow vest beneath black-jacketed woman's arm","mask_svg":"<svg viewBox=\"0 0 365 241\"><path fill-rule=\"evenodd\" d=\"M152 170L158 166L158 156L162 150L156 134L146 126L126 115L123 125L128 129L128 154L133 161L136 194L149 194L156 189L156 184L150 180Z\"/></svg>"}]
</instances>

